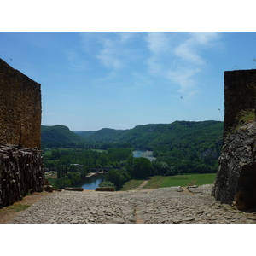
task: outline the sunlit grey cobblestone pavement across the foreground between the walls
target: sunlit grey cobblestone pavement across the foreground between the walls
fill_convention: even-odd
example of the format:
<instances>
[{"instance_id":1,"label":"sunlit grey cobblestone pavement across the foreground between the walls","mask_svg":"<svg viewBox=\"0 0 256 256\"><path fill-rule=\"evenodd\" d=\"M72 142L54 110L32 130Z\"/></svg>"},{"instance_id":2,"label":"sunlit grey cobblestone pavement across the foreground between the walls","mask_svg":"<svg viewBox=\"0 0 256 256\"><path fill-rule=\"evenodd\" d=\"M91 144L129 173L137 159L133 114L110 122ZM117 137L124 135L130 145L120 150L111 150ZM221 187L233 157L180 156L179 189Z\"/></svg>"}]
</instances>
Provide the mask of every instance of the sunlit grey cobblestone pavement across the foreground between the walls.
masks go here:
<instances>
[{"instance_id":1,"label":"sunlit grey cobblestone pavement across the foreground between the walls","mask_svg":"<svg viewBox=\"0 0 256 256\"><path fill-rule=\"evenodd\" d=\"M210 224L256 223L256 212L241 212L211 196L212 185L125 192L50 193L21 212L13 224Z\"/></svg>"}]
</instances>

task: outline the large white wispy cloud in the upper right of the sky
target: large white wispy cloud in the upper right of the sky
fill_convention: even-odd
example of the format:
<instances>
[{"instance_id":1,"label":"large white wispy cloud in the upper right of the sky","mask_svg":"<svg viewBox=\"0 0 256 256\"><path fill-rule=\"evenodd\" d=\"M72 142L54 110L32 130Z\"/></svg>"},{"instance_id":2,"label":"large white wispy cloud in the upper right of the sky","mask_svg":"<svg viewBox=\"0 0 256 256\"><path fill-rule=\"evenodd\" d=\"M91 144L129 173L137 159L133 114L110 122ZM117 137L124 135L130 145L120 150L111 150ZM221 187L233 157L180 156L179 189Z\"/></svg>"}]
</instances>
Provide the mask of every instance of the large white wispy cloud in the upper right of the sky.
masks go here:
<instances>
[{"instance_id":1,"label":"large white wispy cloud in the upper right of the sky","mask_svg":"<svg viewBox=\"0 0 256 256\"><path fill-rule=\"evenodd\" d=\"M178 93L193 96L198 90L195 75L207 64L204 50L215 46L218 38L218 32L150 32L148 71L178 84Z\"/></svg>"}]
</instances>

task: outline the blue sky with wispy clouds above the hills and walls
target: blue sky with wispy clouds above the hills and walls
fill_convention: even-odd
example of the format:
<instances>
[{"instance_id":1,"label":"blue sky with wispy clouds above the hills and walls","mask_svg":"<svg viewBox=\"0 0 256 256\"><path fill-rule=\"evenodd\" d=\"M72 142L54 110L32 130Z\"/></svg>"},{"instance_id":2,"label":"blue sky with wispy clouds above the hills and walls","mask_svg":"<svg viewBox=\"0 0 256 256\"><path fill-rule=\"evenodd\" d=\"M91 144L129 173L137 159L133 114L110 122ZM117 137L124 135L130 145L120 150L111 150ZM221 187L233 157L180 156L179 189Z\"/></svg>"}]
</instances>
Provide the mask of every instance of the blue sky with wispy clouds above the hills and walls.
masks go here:
<instances>
[{"instance_id":1,"label":"blue sky with wispy clouds above the hills and walls","mask_svg":"<svg viewBox=\"0 0 256 256\"><path fill-rule=\"evenodd\" d=\"M224 71L255 68L255 45L256 32L0 32L0 58L41 84L42 125L72 131L223 120Z\"/></svg>"}]
</instances>

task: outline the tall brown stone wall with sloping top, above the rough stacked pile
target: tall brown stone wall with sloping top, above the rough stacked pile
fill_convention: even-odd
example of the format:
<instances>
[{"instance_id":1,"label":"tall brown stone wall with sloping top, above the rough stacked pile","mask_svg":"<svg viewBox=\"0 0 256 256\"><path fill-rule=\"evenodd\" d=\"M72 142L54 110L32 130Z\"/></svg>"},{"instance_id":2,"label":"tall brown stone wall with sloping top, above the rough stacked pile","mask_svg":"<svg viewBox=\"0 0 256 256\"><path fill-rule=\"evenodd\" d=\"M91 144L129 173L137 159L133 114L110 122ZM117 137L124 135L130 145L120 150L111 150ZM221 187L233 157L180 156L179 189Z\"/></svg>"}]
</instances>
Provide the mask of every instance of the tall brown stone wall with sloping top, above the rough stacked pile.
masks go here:
<instances>
[{"instance_id":1,"label":"tall brown stone wall with sloping top, above the rough stacked pile","mask_svg":"<svg viewBox=\"0 0 256 256\"><path fill-rule=\"evenodd\" d=\"M0 143L41 147L41 84L0 59Z\"/></svg>"}]
</instances>

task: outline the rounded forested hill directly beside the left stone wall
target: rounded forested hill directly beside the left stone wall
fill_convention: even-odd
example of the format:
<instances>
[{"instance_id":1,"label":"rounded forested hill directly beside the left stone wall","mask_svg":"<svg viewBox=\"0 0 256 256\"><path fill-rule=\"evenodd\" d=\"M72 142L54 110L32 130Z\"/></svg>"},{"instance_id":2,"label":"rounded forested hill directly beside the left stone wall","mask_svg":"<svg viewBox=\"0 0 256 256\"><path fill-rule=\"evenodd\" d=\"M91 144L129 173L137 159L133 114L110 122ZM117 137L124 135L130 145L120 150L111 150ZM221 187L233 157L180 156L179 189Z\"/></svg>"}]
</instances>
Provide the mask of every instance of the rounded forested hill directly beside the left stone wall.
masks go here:
<instances>
[{"instance_id":1,"label":"rounded forested hill directly beside the left stone wall","mask_svg":"<svg viewBox=\"0 0 256 256\"><path fill-rule=\"evenodd\" d=\"M42 146L62 146L64 144L83 143L84 139L65 125L46 126L41 125Z\"/></svg>"}]
</instances>

